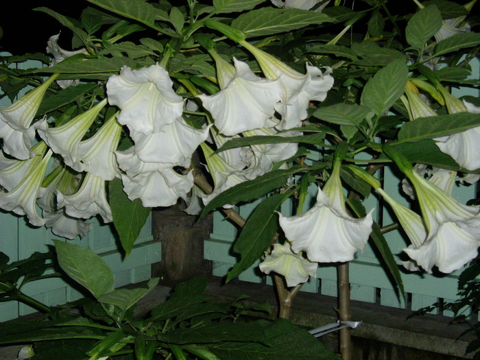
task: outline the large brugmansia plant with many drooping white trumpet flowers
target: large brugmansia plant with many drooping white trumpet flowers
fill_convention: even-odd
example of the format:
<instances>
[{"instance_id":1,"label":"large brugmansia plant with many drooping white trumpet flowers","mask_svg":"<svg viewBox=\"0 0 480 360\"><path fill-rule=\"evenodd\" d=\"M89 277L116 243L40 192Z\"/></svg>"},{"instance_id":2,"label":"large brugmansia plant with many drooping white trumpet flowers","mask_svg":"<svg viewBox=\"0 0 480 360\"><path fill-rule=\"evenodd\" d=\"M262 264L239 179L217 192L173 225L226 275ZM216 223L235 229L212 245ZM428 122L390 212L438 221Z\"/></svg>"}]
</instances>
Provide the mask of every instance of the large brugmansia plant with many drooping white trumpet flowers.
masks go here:
<instances>
[{"instance_id":1,"label":"large brugmansia plant with many drooping white trumpet flowers","mask_svg":"<svg viewBox=\"0 0 480 360\"><path fill-rule=\"evenodd\" d=\"M67 239L100 215L126 254L151 207L223 208L243 226L227 280L265 256L288 317L317 264L341 263L349 320L348 261L369 239L404 295L387 229L409 237L409 271L450 273L477 256L480 208L451 196L480 174L479 99L451 92L479 85L475 2L412 1L409 14L379 0L88 0L80 21L36 8L73 32L71 50L53 35L53 60L2 58L4 96L34 89L0 109L0 207ZM49 67L10 67L28 58ZM405 174L418 210L383 189L384 167ZM379 228L363 207L372 193L396 226ZM232 210L257 199L248 219ZM280 213L285 202L295 213Z\"/></svg>"}]
</instances>

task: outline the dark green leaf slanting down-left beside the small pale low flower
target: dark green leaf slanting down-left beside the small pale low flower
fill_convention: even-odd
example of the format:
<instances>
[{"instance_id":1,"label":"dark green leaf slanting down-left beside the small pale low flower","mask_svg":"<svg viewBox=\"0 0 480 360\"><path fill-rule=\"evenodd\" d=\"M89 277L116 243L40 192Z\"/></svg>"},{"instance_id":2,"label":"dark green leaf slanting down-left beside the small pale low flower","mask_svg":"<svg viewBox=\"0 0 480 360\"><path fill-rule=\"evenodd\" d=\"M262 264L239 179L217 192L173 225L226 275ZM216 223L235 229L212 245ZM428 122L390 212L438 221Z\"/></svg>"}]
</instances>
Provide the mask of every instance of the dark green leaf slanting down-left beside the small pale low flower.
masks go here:
<instances>
[{"instance_id":1,"label":"dark green leaf slanting down-left beside the small pale low flower","mask_svg":"<svg viewBox=\"0 0 480 360\"><path fill-rule=\"evenodd\" d=\"M240 254L241 260L228 272L227 283L260 259L263 252L272 244L272 238L278 229L278 215L275 211L289 195L283 193L267 197L248 217L233 247L233 251Z\"/></svg>"}]
</instances>

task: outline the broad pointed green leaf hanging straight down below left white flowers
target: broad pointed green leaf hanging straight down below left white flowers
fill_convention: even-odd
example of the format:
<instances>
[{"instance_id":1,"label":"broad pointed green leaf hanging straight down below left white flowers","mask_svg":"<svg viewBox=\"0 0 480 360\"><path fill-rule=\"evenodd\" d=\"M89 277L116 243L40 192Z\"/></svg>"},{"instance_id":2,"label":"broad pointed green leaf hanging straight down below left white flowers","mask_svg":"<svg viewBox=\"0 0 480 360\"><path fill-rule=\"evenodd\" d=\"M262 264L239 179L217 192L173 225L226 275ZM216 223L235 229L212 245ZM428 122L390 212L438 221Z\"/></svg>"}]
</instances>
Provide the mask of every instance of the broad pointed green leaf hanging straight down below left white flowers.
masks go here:
<instances>
[{"instance_id":1,"label":"broad pointed green leaf hanging straight down below left white flowers","mask_svg":"<svg viewBox=\"0 0 480 360\"><path fill-rule=\"evenodd\" d=\"M118 178L108 182L108 203L112 208L113 225L125 256L128 256L152 208L143 207L140 199L130 200Z\"/></svg>"}]
</instances>

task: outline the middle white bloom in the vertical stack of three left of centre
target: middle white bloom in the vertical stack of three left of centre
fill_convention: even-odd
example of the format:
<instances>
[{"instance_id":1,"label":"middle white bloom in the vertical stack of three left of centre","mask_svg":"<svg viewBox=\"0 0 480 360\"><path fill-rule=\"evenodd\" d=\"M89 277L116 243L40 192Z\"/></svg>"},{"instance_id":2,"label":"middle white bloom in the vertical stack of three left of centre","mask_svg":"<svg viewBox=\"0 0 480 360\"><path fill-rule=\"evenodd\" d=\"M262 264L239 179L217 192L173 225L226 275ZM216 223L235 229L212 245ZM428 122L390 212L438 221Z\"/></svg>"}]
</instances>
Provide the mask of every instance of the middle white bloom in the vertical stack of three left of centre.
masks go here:
<instances>
[{"instance_id":1,"label":"middle white bloom in the vertical stack of three left of centre","mask_svg":"<svg viewBox=\"0 0 480 360\"><path fill-rule=\"evenodd\" d=\"M146 163L169 163L189 167L195 149L208 137L210 126L192 128L181 117L162 130L143 134L130 132L135 143L135 154Z\"/></svg>"}]
</instances>

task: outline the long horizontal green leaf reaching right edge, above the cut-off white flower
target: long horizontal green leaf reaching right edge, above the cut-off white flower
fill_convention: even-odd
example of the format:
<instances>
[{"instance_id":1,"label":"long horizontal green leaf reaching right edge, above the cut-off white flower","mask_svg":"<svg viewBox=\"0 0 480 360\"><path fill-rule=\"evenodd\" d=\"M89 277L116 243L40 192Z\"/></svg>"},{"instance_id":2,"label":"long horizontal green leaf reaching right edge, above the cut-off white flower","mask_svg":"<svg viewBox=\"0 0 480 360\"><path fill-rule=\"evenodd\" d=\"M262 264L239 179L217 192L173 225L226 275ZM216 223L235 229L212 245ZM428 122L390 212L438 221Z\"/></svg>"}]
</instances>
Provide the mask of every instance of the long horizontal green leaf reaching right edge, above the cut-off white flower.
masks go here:
<instances>
[{"instance_id":1,"label":"long horizontal green leaf reaching right edge, above the cut-off white flower","mask_svg":"<svg viewBox=\"0 0 480 360\"><path fill-rule=\"evenodd\" d=\"M439 138L480 125L480 114L457 112L436 117L420 117L405 123L398 132L398 143Z\"/></svg>"}]
</instances>

